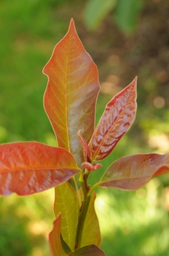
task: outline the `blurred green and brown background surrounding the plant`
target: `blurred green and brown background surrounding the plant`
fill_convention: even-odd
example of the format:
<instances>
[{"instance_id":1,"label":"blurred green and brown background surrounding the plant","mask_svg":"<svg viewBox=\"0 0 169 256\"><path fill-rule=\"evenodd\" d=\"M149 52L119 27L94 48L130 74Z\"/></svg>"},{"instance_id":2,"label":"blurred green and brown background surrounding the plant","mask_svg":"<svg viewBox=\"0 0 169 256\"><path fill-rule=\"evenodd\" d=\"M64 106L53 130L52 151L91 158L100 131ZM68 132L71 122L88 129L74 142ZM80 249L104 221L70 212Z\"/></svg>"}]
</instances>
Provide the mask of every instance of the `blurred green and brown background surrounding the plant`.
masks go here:
<instances>
[{"instance_id":1,"label":"blurred green and brown background surrounding the plant","mask_svg":"<svg viewBox=\"0 0 169 256\"><path fill-rule=\"evenodd\" d=\"M128 154L169 151L169 1L1 0L0 143L38 140L55 146L42 98L42 68L74 18L87 52L98 65L106 103L138 75L138 112L111 162ZM0 197L0 256L49 255L54 190ZM107 256L169 255L169 175L135 192L98 189L95 203L101 248Z\"/></svg>"}]
</instances>

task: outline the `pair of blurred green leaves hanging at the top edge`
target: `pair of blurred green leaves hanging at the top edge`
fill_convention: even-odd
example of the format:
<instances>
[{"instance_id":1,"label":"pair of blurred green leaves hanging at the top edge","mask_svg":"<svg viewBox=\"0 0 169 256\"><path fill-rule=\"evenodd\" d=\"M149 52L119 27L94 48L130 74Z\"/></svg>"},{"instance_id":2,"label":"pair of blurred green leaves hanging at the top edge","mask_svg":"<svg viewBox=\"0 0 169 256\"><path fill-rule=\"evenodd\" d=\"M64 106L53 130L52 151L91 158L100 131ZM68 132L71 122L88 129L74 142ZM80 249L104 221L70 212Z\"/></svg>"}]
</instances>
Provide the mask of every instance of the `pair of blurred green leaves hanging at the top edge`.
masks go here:
<instances>
[{"instance_id":1,"label":"pair of blurred green leaves hanging at the top edge","mask_svg":"<svg viewBox=\"0 0 169 256\"><path fill-rule=\"evenodd\" d=\"M143 0L88 0L84 10L84 22L87 29L101 26L106 15L113 11L113 18L125 33L133 32L138 21Z\"/></svg>"}]
</instances>

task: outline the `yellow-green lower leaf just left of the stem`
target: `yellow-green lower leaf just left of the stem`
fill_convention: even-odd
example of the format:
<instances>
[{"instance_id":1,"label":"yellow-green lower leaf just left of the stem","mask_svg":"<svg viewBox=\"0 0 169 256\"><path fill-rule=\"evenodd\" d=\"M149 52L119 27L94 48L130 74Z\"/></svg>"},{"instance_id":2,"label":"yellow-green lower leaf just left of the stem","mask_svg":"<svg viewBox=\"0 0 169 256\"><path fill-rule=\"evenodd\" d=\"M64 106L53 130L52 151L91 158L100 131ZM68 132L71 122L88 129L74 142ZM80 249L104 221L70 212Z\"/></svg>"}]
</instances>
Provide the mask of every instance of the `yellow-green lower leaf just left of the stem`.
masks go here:
<instances>
[{"instance_id":1,"label":"yellow-green lower leaf just left of the stem","mask_svg":"<svg viewBox=\"0 0 169 256\"><path fill-rule=\"evenodd\" d=\"M55 216L61 213L61 234L63 240L74 250L79 206L76 191L68 182L55 187Z\"/></svg>"}]
</instances>

